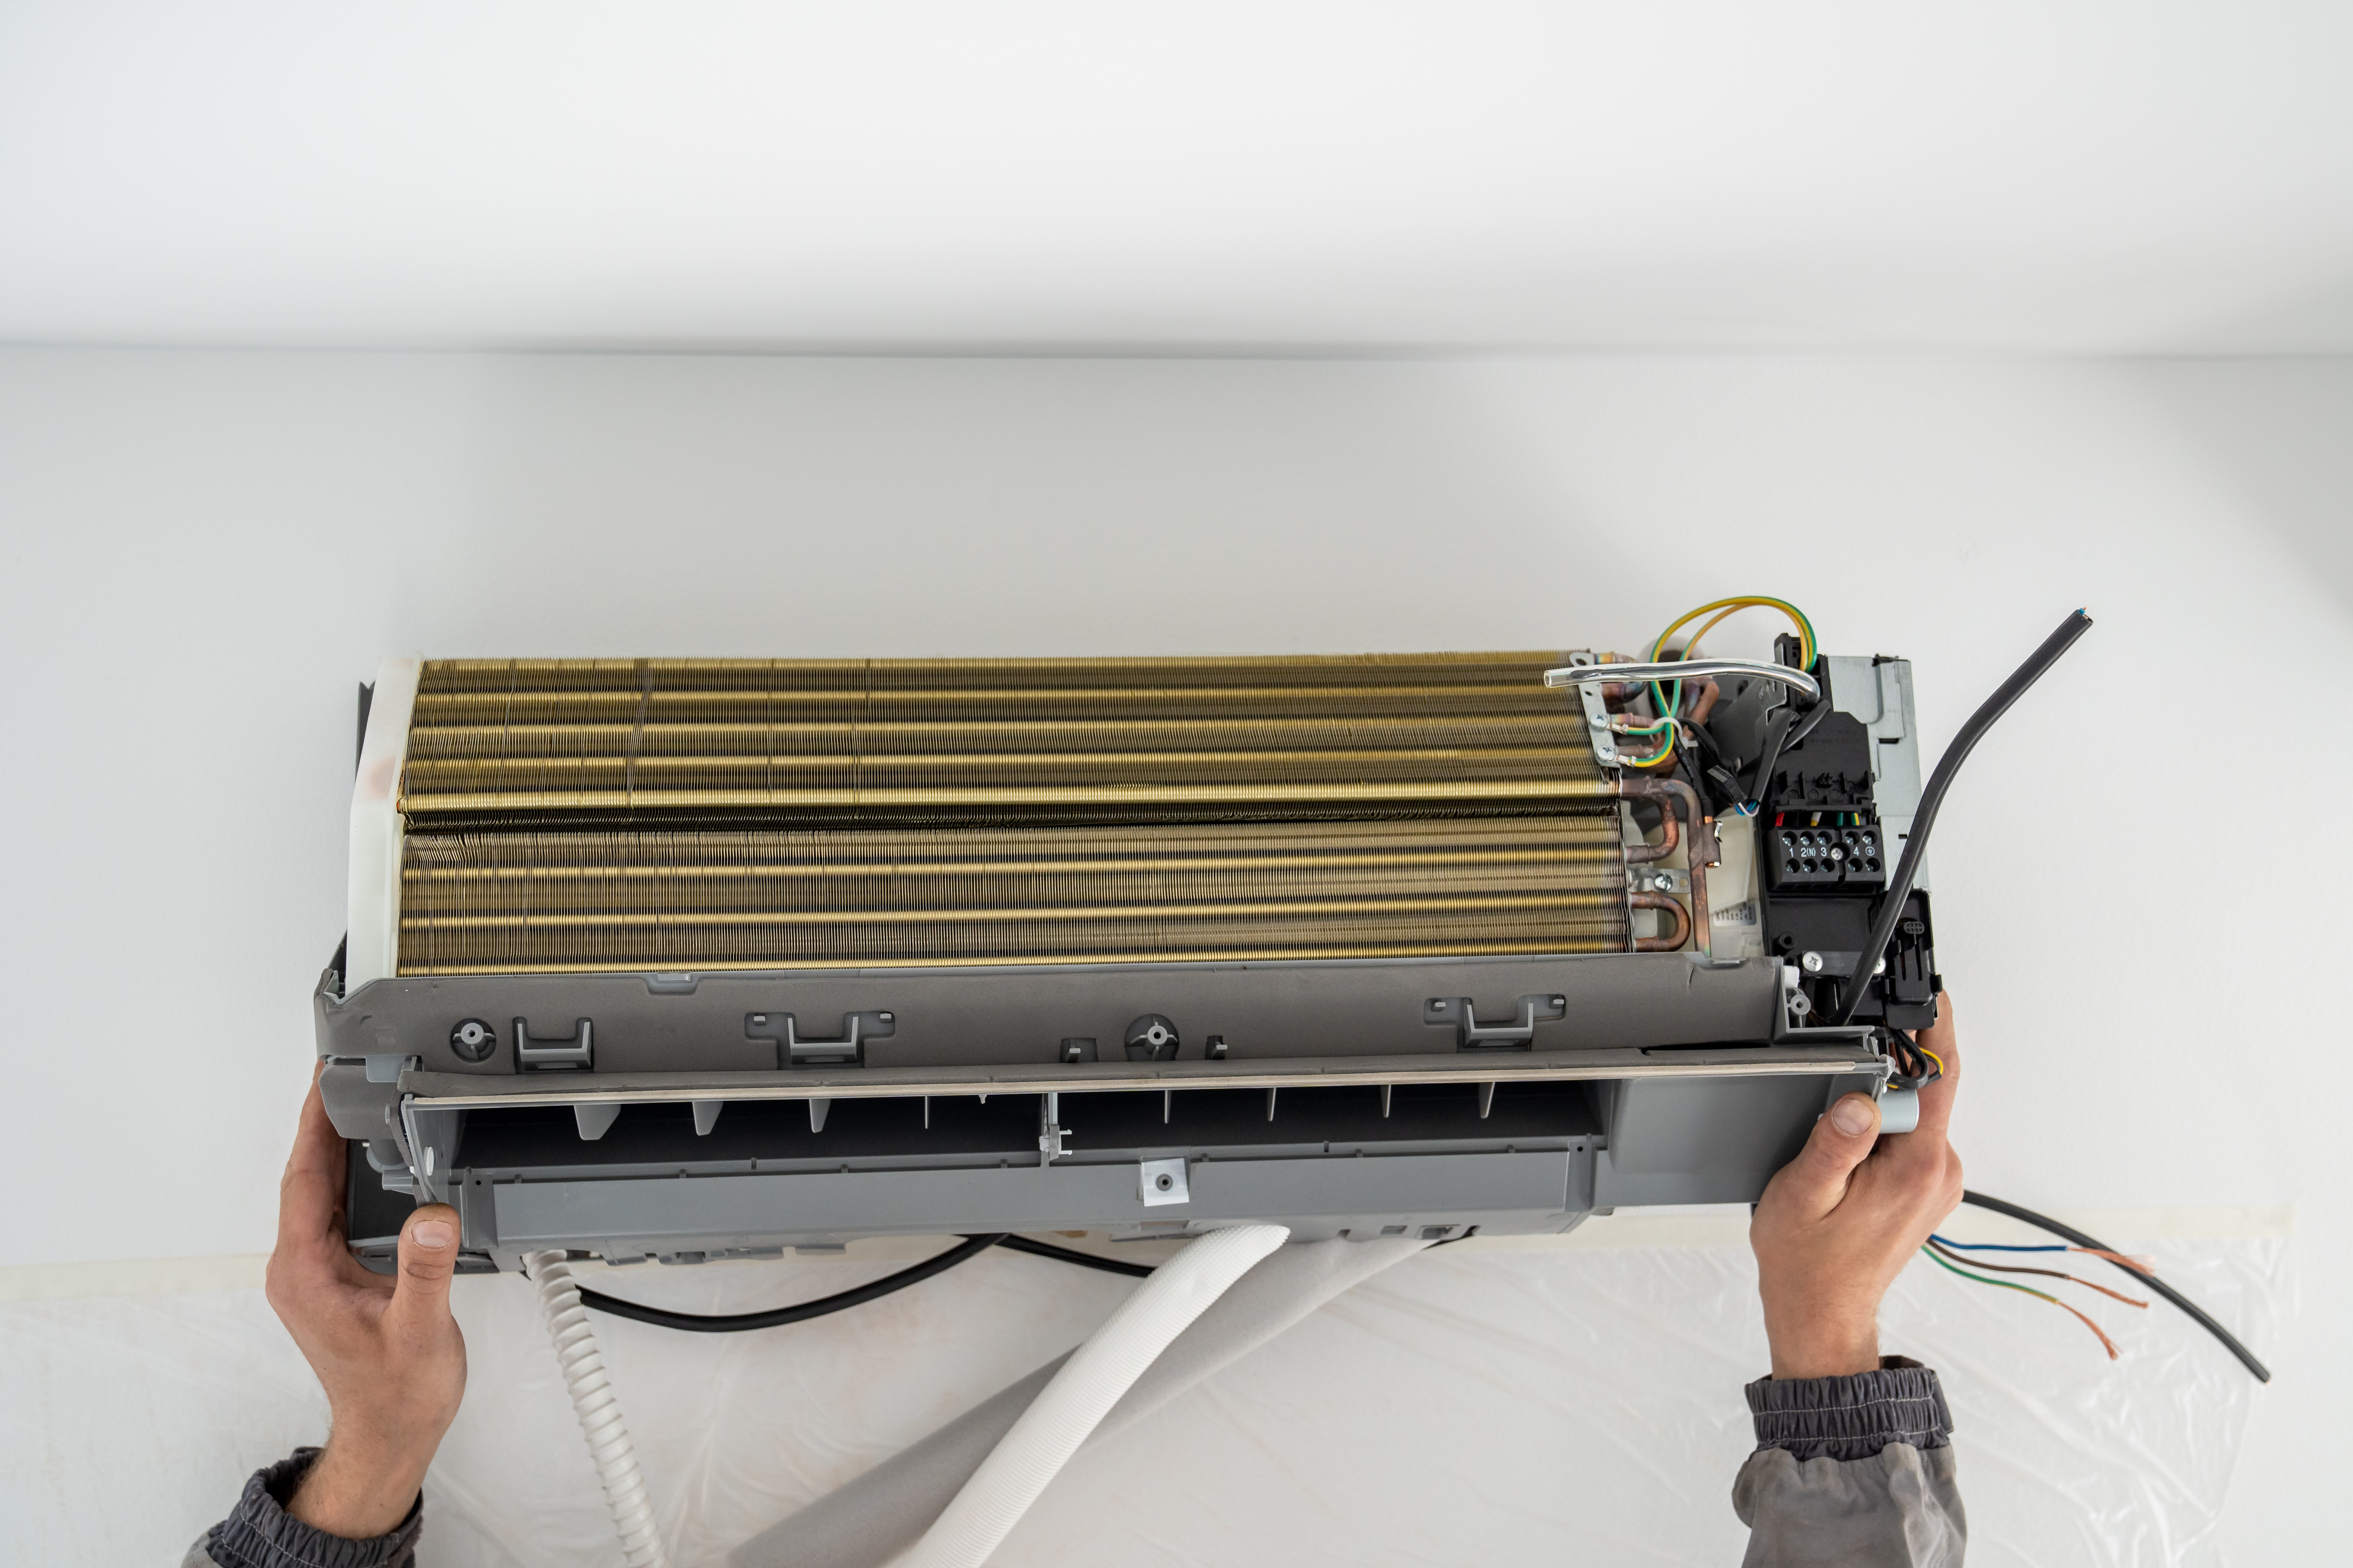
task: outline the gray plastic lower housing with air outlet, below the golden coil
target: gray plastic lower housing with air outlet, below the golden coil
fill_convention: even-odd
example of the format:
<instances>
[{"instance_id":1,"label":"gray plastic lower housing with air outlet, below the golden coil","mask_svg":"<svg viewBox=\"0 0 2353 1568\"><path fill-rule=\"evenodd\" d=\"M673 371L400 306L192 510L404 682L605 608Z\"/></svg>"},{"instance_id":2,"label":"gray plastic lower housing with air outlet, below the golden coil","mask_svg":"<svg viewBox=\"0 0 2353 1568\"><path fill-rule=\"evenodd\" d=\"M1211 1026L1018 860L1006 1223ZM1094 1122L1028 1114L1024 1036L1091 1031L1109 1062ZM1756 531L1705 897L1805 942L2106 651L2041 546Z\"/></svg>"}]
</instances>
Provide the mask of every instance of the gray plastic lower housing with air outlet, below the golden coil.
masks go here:
<instances>
[{"instance_id":1,"label":"gray plastic lower housing with air outlet, below the golden coil","mask_svg":"<svg viewBox=\"0 0 2353 1568\"><path fill-rule=\"evenodd\" d=\"M1753 1199L1831 1095L1885 1079L1861 1030L1788 1030L1777 959L1673 952L442 976L351 997L329 971L315 1011L336 1128L388 1187L456 1204L496 1267L541 1246L706 1260L1238 1220L1558 1232ZM1172 1058L1122 1060L1144 1016L1174 1025ZM586 1041L586 1065L520 1058L518 1020L534 1053ZM1068 1060L1073 1039L1111 1048ZM1169 1159L1181 1204L1139 1180Z\"/></svg>"}]
</instances>

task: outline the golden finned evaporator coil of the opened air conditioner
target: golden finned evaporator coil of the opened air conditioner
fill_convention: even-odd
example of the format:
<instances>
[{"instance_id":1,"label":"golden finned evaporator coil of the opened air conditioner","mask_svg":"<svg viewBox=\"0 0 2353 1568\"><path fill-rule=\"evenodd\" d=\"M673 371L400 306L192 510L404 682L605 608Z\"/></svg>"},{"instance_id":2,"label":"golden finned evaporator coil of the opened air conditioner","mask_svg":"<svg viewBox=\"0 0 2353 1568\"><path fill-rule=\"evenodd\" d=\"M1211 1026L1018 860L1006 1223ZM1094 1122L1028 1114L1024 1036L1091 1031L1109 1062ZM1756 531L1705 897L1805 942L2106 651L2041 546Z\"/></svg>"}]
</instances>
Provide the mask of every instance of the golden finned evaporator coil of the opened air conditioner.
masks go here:
<instances>
[{"instance_id":1,"label":"golden finned evaporator coil of the opened air conditioner","mask_svg":"<svg viewBox=\"0 0 2353 1568\"><path fill-rule=\"evenodd\" d=\"M428 661L398 969L1617 952L1560 661Z\"/></svg>"}]
</instances>

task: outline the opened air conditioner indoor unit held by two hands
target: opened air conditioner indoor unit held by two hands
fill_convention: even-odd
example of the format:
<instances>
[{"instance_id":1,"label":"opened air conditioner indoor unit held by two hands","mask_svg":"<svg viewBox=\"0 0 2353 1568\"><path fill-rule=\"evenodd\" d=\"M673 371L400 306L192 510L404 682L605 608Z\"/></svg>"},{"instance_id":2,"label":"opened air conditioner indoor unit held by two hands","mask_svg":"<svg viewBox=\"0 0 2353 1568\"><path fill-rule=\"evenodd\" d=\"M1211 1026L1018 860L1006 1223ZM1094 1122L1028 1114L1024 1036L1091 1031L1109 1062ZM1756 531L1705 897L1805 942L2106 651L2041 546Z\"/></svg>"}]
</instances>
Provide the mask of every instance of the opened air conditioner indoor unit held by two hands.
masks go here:
<instances>
[{"instance_id":1,"label":"opened air conditioner indoor unit held by two hands","mask_svg":"<svg viewBox=\"0 0 2353 1568\"><path fill-rule=\"evenodd\" d=\"M1657 675L1659 679L1649 679ZM1755 1199L1934 1018L1911 665L391 661L315 994L351 1227L1560 1232ZM1859 997L1852 992L1859 987ZM1826 1018L1849 1011L1840 1027Z\"/></svg>"}]
</instances>

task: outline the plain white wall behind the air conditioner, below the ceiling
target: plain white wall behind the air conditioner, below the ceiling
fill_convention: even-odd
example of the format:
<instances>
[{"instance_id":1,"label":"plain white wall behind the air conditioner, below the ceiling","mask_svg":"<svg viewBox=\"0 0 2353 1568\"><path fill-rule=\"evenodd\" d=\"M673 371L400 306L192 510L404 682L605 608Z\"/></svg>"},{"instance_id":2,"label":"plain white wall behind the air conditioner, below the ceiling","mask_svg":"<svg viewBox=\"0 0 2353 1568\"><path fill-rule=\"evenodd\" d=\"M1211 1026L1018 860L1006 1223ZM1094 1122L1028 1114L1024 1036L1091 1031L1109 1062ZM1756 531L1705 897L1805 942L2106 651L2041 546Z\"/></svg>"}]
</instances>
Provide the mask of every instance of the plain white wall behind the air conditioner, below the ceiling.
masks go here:
<instances>
[{"instance_id":1,"label":"plain white wall behind the air conditioner, below the ceiling","mask_svg":"<svg viewBox=\"0 0 2353 1568\"><path fill-rule=\"evenodd\" d=\"M1767 590L1915 658L1934 755L2087 604L1939 825L1958 1135L2033 1206L2297 1208L2228 1523L2292 1561L2353 1403L2348 435L2348 362L0 353L0 1262L268 1246L384 654L1628 646Z\"/></svg>"}]
</instances>

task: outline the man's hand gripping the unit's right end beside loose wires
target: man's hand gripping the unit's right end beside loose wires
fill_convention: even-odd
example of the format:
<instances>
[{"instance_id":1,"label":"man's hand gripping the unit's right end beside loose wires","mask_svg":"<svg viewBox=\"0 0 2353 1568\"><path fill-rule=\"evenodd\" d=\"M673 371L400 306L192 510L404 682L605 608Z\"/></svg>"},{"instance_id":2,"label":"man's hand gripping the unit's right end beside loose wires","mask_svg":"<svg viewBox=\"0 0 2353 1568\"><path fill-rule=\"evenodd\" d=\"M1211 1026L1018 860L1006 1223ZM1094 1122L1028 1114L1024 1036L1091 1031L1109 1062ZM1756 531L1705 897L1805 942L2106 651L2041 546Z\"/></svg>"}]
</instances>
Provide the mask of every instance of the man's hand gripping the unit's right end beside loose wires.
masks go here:
<instances>
[{"instance_id":1,"label":"man's hand gripping the unit's right end beside loose wires","mask_svg":"<svg viewBox=\"0 0 2353 1568\"><path fill-rule=\"evenodd\" d=\"M1946 1143L1960 1088L1948 997L1937 997L1937 1027L1920 1044L1944 1058L1944 1077L1920 1091L1918 1131L1880 1138L1880 1107L1840 1095L1748 1222L1774 1378L1875 1368L1880 1298L1960 1204L1960 1157Z\"/></svg>"}]
</instances>

